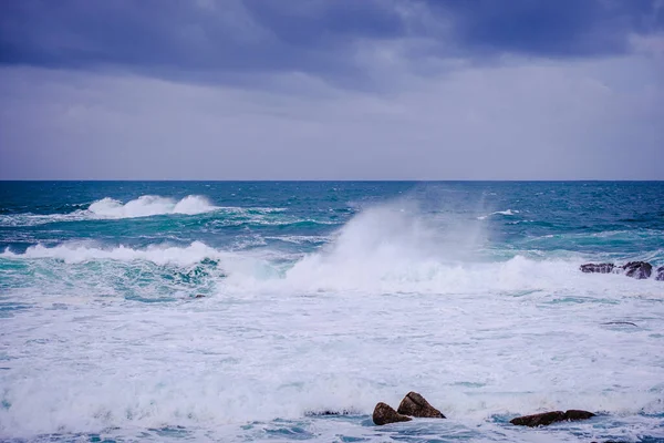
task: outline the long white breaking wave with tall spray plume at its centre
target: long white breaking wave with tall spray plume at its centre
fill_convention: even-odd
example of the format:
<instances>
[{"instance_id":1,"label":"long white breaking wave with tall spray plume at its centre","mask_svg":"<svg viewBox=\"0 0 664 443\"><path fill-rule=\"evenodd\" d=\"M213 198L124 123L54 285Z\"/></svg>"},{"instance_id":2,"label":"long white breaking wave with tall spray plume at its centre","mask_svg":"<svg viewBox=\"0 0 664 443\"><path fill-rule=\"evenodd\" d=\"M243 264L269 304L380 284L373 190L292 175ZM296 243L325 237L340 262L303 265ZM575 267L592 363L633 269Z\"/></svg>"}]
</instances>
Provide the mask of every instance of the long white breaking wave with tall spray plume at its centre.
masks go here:
<instances>
[{"instance_id":1,"label":"long white breaking wave with tall spray plume at its centre","mask_svg":"<svg viewBox=\"0 0 664 443\"><path fill-rule=\"evenodd\" d=\"M312 243L315 250L293 254L292 249L271 249L266 239ZM364 210L326 237L258 236L250 237L248 241L260 247L253 250L222 249L201 241L145 248L66 243L55 247L31 246L22 254L6 249L0 258L54 259L65 266L114 261L126 269L132 269L136 262L189 267L211 259L224 271L224 280L217 285L219 291L235 295L274 291L518 293L570 288L595 293L611 288L639 287L645 292L661 289L661 284L655 281L639 282L623 276L598 279L584 275L579 271L579 265L589 258L577 253L496 251L487 248L481 223L474 226L468 220L436 219L433 224L417 210L394 206ZM228 247L232 248L231 245ZM61 265L52 262L43 266L61 268ZM62 268L61 271L66 272L68 269ZM158 277L158 269L151 272L155 274L154 278L163 278Z\"/></svg>"}]
</instances>

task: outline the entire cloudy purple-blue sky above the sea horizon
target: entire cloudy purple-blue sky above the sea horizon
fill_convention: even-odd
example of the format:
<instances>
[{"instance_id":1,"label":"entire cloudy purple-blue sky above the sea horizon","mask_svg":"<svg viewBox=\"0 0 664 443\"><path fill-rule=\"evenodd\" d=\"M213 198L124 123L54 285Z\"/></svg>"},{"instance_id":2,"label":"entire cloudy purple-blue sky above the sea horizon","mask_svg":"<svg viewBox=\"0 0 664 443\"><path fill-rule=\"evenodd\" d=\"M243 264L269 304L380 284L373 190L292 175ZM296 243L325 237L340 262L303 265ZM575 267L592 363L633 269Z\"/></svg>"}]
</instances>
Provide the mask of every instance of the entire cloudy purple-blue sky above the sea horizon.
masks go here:
<instances>
[{"instance_id":1,"label":"entire cloudy purple-blue sky above the sea horizon","mask_svg":"<svg viewBox=\"0 0 664 443\"><path fill-rule=\"evenodd\" d=\"M0 179L664 179L664 0L0 1Z\"/></svg>"}]
</instances>

